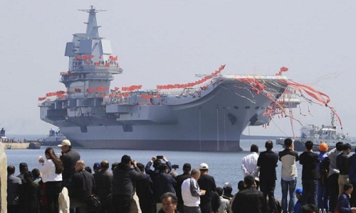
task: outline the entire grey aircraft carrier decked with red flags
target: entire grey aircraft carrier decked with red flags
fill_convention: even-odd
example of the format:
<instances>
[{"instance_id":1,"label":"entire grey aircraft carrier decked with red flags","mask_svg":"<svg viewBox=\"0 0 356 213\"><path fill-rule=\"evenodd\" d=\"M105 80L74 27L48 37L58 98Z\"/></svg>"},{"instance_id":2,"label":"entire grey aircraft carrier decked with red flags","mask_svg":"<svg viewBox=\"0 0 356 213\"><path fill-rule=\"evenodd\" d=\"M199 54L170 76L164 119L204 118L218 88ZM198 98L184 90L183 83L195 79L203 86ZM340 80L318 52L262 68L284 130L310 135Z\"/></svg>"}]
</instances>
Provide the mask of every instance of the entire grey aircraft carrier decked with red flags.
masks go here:
<instances>
[{"instance_id":1,"label":"entire grey aircraft carrier decked with red flags","mask_svg":"<svg viewBox=\"0 0 356 213\"><path fill-rule=\"evenodd\" d=\"M98 10L83 11L89 13L86 33L75 33L66 45L68 71L60 80L66 91L38 99L41 119L58 126L75 146L241 151L244 129L268 124L282 107L278 98L288 87L287 77L222 75L224 65L197 82L110 89L123 70L110 40L99 35Z\"/></svg>"}]
</instances>

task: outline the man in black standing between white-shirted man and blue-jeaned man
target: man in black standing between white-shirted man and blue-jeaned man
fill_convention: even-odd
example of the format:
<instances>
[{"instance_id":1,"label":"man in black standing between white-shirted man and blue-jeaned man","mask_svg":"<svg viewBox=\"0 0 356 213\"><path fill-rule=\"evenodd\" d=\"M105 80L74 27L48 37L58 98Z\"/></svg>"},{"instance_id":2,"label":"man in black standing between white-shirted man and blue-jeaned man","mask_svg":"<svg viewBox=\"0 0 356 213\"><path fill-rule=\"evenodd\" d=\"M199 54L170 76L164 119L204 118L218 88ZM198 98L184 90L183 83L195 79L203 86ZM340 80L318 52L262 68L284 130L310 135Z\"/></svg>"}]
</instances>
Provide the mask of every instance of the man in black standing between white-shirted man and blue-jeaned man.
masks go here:
<instances>
[{"instance_id":1,"label":"man in black standing between white-shirted man and blue-jeaned man","mask_svg":"<svg viewBox=\"0 0 356 213\"><path fill-rule=\"evenodd\" d=\"M274 199L274 190L276 188L276 167L278 163L278 155L272 151L273 142L266 141L266 151L261 152L258 156L257 166L260 167L260 189L263 192L264 207L263 209L270 209L270 212L276 211L276 202ZM268 205L267 205L268 195Z\"/></svg>"}]
</instances>

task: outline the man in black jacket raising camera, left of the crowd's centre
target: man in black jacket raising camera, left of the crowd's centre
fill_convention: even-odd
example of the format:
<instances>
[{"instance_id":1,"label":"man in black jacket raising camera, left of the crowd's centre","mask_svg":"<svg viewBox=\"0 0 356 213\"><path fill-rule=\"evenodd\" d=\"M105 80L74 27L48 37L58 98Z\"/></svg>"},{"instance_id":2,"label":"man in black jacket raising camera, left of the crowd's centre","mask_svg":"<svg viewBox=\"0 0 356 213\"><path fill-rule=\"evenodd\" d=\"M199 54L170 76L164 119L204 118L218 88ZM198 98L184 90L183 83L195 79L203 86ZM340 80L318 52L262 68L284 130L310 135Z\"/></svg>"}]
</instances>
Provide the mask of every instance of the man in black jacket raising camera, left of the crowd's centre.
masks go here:
<instances>
[{"instance_id":1,"label":"man in black jacket raising camera, left of the crowd's centre","mask_svg":"<svg viewBox=\"0 0 356 213\"><path fill-rule=\"evenodd\" d=\"M134 168L131 168L131 165ZM112 203L115 212L129 213L132 196L135 195L135 180L149 178L148 175L140 173L135 160L129 155L123 155L114 171L112 180Z\"/></svg>"}]
</instances>

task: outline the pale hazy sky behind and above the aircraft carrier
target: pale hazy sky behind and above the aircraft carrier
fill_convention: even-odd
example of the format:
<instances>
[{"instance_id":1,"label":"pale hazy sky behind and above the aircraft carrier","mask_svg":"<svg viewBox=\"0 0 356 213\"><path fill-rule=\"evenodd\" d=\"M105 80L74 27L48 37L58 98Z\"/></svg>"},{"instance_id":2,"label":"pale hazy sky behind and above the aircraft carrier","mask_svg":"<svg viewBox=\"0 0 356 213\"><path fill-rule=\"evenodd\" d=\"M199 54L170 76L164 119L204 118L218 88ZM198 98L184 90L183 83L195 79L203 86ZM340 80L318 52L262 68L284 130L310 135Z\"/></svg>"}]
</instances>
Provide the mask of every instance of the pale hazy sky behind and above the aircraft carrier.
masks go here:
<instances>
[{"instance_id":1,"label":"pale hazy sky behind and above the aircraft carrier","mask_svg":"<svg viewBox=\"0 0 356 213\"><path fill-rule=\"evenodd\" d=\"M39 118L38 97L65 90L60 72L73 33L85 33L88 13L97 14L100 36L111 40L121 75L114 87L194 82L195 74L283 73L330 97L343 132L356 136L352 92L356 79L356 1L4 1L0 11L1 113L6 134L43 134L55 128ZM330 124L330 110L300 104L303 125ZM310 112L308 112L308 110ZM298 136L300 124L276 117L245 134Z\"/></svg>"}]
</instances>

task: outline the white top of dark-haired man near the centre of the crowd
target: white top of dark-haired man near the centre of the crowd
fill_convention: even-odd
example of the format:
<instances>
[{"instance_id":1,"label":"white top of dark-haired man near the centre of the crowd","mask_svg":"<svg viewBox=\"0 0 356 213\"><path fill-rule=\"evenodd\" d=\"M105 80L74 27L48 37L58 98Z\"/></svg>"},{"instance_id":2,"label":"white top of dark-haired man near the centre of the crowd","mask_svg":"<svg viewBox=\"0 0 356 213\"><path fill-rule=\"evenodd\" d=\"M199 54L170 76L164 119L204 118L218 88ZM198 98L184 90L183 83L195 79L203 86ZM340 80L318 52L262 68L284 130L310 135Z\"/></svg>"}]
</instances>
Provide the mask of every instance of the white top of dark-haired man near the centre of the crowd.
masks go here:
<instances>
[{"instance_id":1,"label":"white top of dark-haired man near the centre of the crowd","mask_svg":"<svg viewBox=\"0 0 356 213\"><path fill-rule=\"evenodd\" d=\"M184 206L199 207L200 192L197 180L194 178L187 178L182 183L182 198Z\"/></svg>"}]
</instances>

